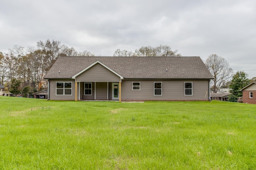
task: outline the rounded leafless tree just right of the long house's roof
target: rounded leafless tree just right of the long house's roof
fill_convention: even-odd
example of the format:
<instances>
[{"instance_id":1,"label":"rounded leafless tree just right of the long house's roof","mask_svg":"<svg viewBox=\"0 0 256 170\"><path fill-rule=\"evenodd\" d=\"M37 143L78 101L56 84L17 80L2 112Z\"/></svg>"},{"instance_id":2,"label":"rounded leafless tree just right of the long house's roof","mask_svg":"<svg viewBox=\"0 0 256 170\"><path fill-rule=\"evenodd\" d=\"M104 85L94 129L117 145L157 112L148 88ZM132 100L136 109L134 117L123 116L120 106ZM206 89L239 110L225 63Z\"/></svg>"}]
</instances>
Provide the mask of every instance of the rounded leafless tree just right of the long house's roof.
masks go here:
<instances>
[{"instance_id":1,"label":"rounded leafless tree just right of the long house's roof","mask_svg":"<svg viewBox=\"0 0 256 170\"><path fill-rule=\"evenodd\" d=\"M210 73L214 76L214 90L213 92L218 92L220 86L227 80L229 80L233 75L233 69L229 66L228 62L216 54L209 55L205 61Z\"/></svg>"}]
</instances>

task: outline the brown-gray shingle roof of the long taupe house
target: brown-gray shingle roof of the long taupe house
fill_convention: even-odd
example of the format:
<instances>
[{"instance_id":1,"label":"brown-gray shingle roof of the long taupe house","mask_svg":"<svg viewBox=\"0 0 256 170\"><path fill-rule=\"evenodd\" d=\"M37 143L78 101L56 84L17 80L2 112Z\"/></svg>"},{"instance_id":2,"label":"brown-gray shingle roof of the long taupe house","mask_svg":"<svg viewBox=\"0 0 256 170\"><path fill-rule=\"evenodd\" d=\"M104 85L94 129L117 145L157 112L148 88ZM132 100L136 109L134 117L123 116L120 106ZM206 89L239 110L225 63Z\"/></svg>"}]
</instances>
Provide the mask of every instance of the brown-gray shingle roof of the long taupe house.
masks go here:
<instances>
[{"instance_id":1,"label":"brown-gray shingle roof of the long taupe house","mask_svg":"<svg viewBox=\"0 0 256 170\"><path fill-rule=\"evenodd\" d=\"M58 57L45 78L71 78L96 61L124 78L213 78L200 57Z\"/></svg>"}]
</instances>

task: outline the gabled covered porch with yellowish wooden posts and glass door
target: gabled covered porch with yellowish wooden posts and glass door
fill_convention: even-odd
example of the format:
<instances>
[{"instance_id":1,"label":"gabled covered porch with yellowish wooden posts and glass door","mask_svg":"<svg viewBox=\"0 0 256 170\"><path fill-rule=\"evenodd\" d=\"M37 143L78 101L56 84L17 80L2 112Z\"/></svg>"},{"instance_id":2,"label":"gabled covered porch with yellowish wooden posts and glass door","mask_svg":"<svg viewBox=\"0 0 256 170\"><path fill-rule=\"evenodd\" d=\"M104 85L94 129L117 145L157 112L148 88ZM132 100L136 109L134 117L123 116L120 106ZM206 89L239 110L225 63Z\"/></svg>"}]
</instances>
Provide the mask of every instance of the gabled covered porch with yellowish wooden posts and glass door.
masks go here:
<instances>
[{"instance_id":1,"label":"gabled covered porch with yellowish wooden posts and glass door","mask_svg":"<svg viewBox=\"0 0 256 170\"><path fill-rule=\"evenodd\" d=\"M72 76L75 79L75 100L119 100L121 102L120 74L100 61Z\"/></svg>"}]
</instances>

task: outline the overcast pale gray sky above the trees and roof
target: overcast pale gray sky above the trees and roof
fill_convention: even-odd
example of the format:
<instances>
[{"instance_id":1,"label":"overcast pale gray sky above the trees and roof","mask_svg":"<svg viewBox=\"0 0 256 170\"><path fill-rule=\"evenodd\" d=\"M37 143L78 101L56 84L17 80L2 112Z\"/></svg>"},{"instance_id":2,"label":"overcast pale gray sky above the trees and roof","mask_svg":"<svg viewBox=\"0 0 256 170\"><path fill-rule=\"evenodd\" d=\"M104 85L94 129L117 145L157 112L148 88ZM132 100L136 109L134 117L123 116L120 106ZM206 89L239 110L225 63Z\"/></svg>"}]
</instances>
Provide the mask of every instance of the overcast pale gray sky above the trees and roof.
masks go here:
<instances>
[{"instance_id":1,"label":"overcast pale gray sky above the trees and roof","mask_svg":"<svg viewBox=\"0 0 256 170\"><path fill-rule=\"evenodd\" d=\"M217 54L256 76L256 0L0 0L0 51L47 39L76 51L168 45L182 56Z\"/></svg>"}]
</instances>

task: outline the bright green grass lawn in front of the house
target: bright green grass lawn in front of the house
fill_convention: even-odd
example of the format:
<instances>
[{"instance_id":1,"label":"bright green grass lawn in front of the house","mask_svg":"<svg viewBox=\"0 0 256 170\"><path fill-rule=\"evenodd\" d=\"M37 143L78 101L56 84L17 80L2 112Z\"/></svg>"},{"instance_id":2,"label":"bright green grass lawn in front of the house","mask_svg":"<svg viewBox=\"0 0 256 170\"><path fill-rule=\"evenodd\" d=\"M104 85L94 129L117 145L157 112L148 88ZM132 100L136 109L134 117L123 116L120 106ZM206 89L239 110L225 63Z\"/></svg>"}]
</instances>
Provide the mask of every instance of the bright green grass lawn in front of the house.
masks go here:
<instances>
[{"instance_id":1,"label":"bright green grass lawn in front of the house","mask_svg":"<svg viewBox=\"0 0 256 170\"><path fill-rule=\"evenodd\" d=\"M0 169L256 169L256 105L0 96Z\"/></svg>"}]
</instances>

